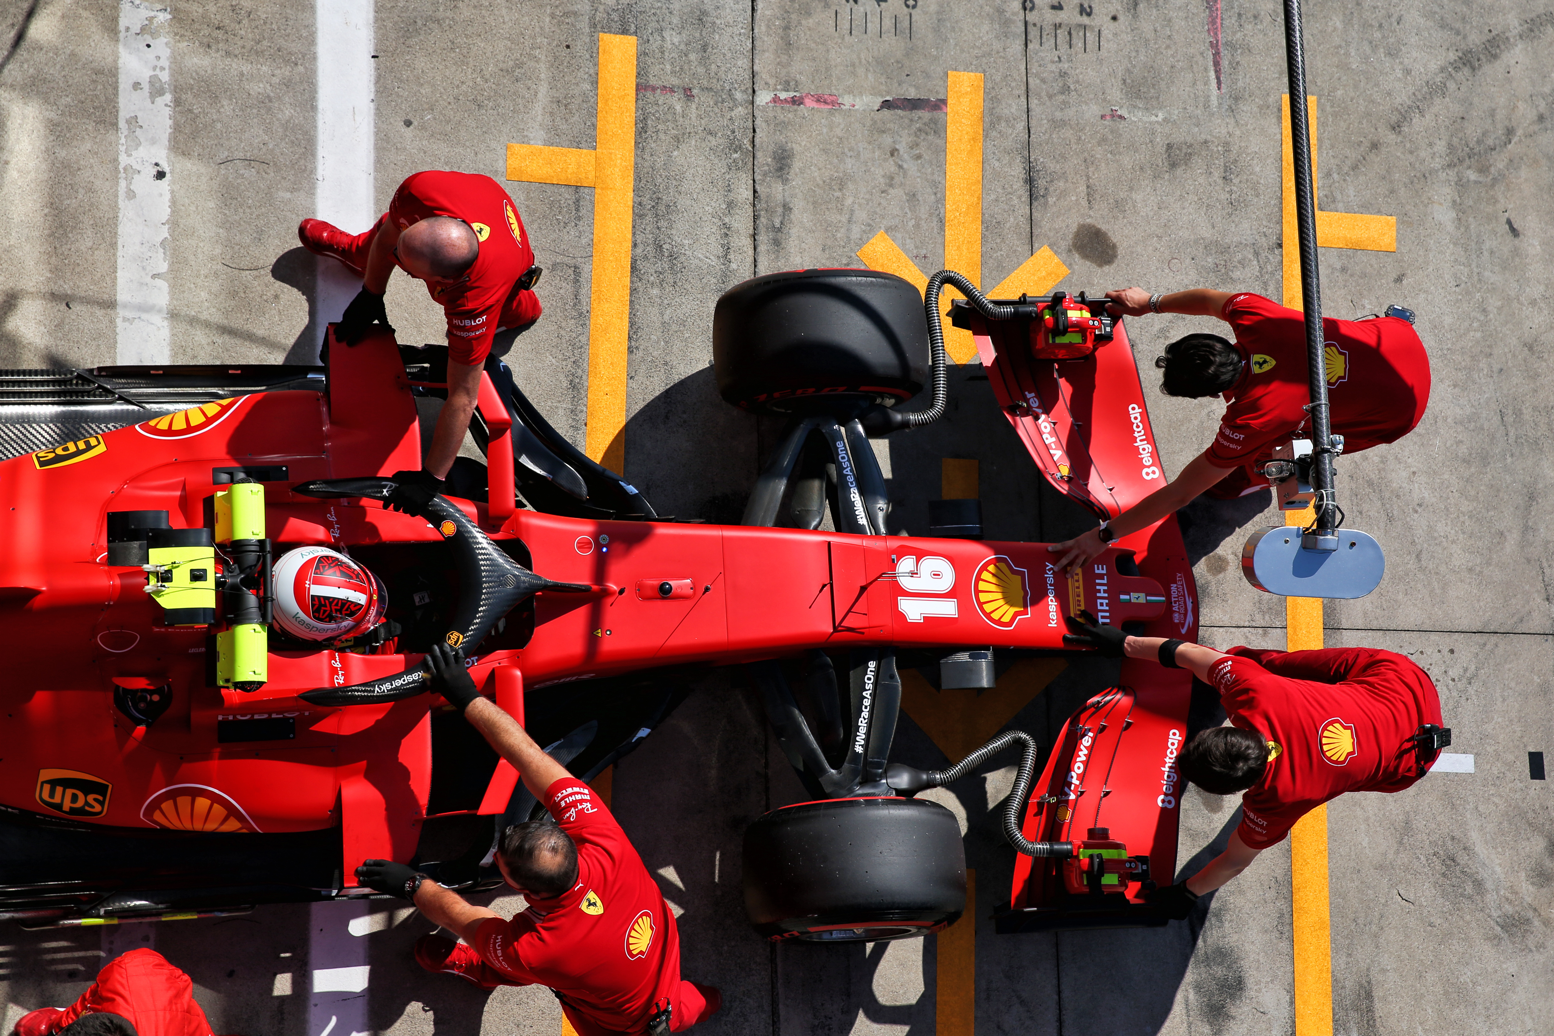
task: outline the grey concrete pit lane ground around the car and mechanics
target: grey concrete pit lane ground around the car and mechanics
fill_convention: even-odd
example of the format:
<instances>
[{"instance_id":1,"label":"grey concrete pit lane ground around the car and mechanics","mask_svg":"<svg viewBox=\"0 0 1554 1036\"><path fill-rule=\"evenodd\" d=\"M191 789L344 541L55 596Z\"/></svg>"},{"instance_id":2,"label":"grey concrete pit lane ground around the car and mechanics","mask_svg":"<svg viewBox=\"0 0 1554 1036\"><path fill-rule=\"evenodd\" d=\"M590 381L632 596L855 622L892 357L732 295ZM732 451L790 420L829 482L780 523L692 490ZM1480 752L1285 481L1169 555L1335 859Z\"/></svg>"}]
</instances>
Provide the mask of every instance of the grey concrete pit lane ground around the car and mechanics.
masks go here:
<instances>
[{"instance_id":1,"label":"grey concrete pit lane ground around the car and mechanics","mask_svg":"<svg viewBox=\"0 0 1554 1036\"><path fill-rule=\"evenodd\" d=\"M157 3L121 6L143 19ZM331 169L320 166L320 123L328 140L351 137L319 115L317 12L351 5L177 6L160 84L171 89L169 359L312 356L339 287L315 275L294 227L315 214L320 177L325 188L368 185L364 205L376 213L416 169L502 179L507 143L592 148L597 33L639 40L625 474L664 513L735 520L775 433L713 391L710 315L723 289L758 272L856 264L856 249L881 230L920 269L940 266L945 115L931 101L946 96L951 70L985 76L984 284L1049 245L1072 269L1064 287L1211 286L1277 300L1277 9L1032 6L385 2L370 37L334 22L325 34L329 47L370 39L376 54L348 65L371 68L373 85L361 73L345 84L376 99L371 165L357 151L356 168ZM135 286L154 280L132 269L126 290L117 269L121 213L152 210L149 194L129 199L140 208L121 202L135 134L120 118L115 14L81 0L0 6L0 40L25 28L0 67L11 202L0 231L3 367L113 362L115 311L148 297ZM1369 598L1327 606L1327 643L1411 652L1441 688L1453 752L1475 758L1473 774L1330 808L1333 1027L1534 1031L1554 989L1551 798L1528 769L1529 750L1554 749L1551 533L1540 514L1554 474L1545 402L1554 379L1542 348L1554 315L1542 250L1554 12L1416 0L1330 5L1307 19L1319 207L1397 219L1395 253L1322 250L1324 311L1411 306L1436 377L1411 436L1340 463L1341 502L1382 539L1388 575ZM339 79L347 57L325 56L325 81ZM337 113L342 96L323 107ZM895 98L929 103L881 110ZM510 362L581 441L591 191L508 188L547 270L545 317ZM440 340L441 317L418 286L396 280L388 309L402 342ZM1204 323L1138 320L1130 332L1147 367L1161 343ZM1037 485L976 374L957 373L945 422L881 444L894 525L923 530L945 457L981 461L991 536L1061 539L1088 525ZM1209 401L1152 404L1172 474L1209 441L1217 412ZM1186 513L1206 643L1284 646L1282 601L1251 590L1235 564L1245 536L1277 522L1267 508L1257 495ZM1040 676L1024 674L1026 690L1040 690ZM1108 679L1105 665L1077 660L1009 722L1049 741ZM932 722L904 718L898 758L942 764L943 739ZM985 918L1012 862L988 803L1009 780L996 770L943 794L967 817L977 871L976 1031L1294 1031L1285 847L1186 924L996 937ZM612 792L684 909L685 974L724 989L726 1013L704 1031L971 1031L963 1011L940 1011L970 974L963 958L939 960L943 938L772 949L746 932L740 834L799 792L737 679L706 680L617 767ZM1200 847L1223 845L1235 808L1187 795L1183 868L1214 851ZM267 907L101 932L0 926L6 1024L22 1008L68 1002L104 955L155 944L194 975L219 1031L322 1036L331 1020L331 1036L559 1030L544 991L486 997L420 974L409 947L427 926L393 907ZM357 920L354 935L351 915L362 912L371 920ZM353 991L361 968L368 985Z\"/></svg>"}]
</instances>

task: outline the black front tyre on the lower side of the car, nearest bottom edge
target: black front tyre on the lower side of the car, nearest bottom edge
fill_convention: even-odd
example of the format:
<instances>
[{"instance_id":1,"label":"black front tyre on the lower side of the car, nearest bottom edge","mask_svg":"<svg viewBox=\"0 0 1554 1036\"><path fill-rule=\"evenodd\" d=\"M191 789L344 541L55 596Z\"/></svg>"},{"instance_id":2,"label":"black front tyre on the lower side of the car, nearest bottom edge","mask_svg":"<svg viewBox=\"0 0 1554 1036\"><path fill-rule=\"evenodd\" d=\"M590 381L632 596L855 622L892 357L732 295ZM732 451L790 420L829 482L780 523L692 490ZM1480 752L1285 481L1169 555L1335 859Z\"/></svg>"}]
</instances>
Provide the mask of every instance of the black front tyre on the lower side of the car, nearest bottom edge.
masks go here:
<instances>
[{"instance_id":1,"label":"black front tyre on the lower side of the car, nearest bottom edge","mask_svg":"<svg viewBox=\"0 0 1554 1036\"><path fill-rule=\"evenodd\" d=\"M744 910L772 940L928 935L965 910L954 814L918 798L833 798L768 812L744 833Z\"/></svg>"}]
</instances>

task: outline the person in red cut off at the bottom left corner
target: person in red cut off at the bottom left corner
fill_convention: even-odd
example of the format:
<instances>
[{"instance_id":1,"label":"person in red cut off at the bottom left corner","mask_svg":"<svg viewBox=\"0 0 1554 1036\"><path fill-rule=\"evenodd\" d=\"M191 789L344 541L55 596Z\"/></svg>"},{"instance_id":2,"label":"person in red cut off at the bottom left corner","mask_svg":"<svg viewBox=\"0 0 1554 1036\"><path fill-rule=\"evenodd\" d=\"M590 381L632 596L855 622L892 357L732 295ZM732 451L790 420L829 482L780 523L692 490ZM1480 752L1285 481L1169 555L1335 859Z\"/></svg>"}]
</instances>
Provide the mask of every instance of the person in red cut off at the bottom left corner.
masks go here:
<instances>
[{"instance_id":1,"label":"person in red cut off at the bottom left corner","mask_svg":"<svg viewBox=\"0 0 1554 1036\"><path fill-rule=\"evenodd\" d=\"M154 949L132 949L115 957L75 1003L23 1014L12 1036L89 1031L92 1036L211 1036L205 1011L194 1002L194 983Z\"/></svg>"}]
</instances>

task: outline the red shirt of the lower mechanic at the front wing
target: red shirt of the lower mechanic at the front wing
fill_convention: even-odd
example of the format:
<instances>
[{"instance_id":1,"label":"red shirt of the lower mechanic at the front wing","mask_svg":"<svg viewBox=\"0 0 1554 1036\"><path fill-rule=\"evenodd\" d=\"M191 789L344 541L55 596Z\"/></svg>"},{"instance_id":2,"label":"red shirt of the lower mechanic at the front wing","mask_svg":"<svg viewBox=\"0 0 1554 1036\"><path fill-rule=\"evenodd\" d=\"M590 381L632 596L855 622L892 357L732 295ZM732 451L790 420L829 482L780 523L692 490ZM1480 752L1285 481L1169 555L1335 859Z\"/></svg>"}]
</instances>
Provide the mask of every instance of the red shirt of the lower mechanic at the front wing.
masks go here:
<instances>
[{"instance_id":1,"label":"red shirt of the lower mechanic at the front wing","mask_svg":"<svg viewBox=\"0 0 1554 1036\"><path fill-rule=\"evenodd\" d=\"M1344 792L1403 791L1420 777L1414 736L1441 722L1430 676L1374 648L1231 648L1209 668L1231 725L1274 742L1262 780L1242 797L1242 842L1265 850L1296 820Z\"/></svg>"}]
</instances>

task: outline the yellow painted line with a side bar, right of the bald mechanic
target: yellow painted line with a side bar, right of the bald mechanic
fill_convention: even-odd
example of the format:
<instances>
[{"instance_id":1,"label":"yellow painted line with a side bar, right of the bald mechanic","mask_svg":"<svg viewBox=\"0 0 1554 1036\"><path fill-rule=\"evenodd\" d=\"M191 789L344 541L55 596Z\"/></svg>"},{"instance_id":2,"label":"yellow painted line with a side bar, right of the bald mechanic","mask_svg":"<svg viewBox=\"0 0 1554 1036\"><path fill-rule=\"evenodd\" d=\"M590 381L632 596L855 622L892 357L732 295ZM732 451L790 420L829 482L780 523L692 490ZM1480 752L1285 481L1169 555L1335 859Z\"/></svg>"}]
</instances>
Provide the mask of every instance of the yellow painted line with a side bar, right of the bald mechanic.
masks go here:
<instances>
[{"instance_id":1,"label":"yellow painted line with a side bar, right of the bald mechanic","mask_svg":"<svg viewBox=\"0 0 1554 1036\"><path fill-rule=\"evenodd\" d=\"M626 464L626 332L631 317L631 205L637 154L637 37L598 37L594 149L507 146L507 179L594 188L587 433L583 452Z\"/></svg>"}]
</instances>

